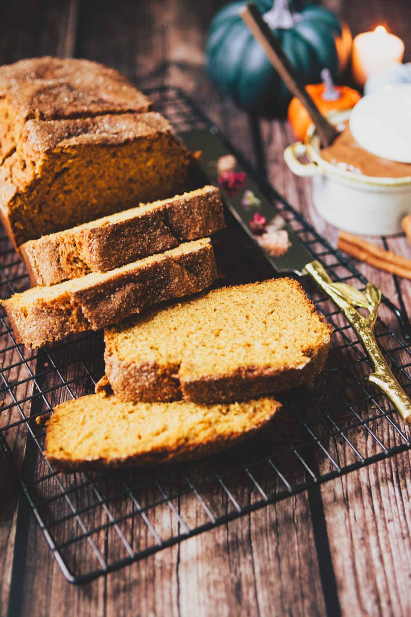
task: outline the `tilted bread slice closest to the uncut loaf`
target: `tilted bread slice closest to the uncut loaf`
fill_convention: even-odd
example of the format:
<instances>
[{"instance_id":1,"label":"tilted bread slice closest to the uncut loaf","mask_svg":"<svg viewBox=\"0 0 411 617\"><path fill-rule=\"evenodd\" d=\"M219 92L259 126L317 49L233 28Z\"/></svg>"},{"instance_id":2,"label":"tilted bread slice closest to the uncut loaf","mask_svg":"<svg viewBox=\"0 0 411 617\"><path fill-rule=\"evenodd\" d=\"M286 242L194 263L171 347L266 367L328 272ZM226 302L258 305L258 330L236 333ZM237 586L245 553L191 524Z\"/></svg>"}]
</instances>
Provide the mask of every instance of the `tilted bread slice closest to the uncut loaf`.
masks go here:
<instances>
[{"instance_id":1,"label":"tilted bread slice closest to the uncut loaf","mask_svg":"<svg viewBox=\"0 0 411 617\"><path fill-rule=\"evenodd\" d=\"M205 186L20 246L35 285L105 272L224 227L219 190Z\"/></svg>"}]
</instances>

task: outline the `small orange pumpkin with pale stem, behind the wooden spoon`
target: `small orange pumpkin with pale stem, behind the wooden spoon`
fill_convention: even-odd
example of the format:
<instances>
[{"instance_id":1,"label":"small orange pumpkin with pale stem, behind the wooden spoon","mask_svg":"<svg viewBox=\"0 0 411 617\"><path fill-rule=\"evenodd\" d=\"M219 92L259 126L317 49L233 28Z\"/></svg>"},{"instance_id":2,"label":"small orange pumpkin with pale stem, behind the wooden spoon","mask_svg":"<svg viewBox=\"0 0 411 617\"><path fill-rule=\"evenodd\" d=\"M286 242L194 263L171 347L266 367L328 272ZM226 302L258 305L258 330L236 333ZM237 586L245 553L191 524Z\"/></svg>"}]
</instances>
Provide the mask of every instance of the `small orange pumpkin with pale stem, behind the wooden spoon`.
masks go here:
<instances>
[{"instance_id":1,"label":"small orange pumpkin with pale stem, behind the wooden spoon","mask_svg":"<svg viewBox=\"0 0 411 617\"><path fill-rule=\"evenodd\" d=\"M360 100L361 95L357 90L349 88L349 86L335 86L330 72L326 68L322 70L321 77L323 83L309 84L306 86L306 91L314 99L322 114L327 114L333 110L351 109ZM306 136L308 127L312 124L312 120L297 97L291 99L287 117L296 138L302 141Z\"/></svg>"}]
</instances>

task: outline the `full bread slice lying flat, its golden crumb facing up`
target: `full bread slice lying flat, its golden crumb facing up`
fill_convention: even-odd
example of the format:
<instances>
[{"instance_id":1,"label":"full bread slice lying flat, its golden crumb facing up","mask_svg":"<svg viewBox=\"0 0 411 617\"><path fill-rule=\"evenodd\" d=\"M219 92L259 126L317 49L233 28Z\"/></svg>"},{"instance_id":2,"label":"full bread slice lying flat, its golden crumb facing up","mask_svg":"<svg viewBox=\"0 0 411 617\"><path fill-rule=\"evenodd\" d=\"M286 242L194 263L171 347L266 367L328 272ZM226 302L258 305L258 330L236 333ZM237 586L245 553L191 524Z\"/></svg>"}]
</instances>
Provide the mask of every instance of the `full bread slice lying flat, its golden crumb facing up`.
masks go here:
<instances>
[{"instance_id":1,"label":"full bread slice lying flat, its golden crumb facing up","mask_svg":"<svg viewBox=\"0 0 411 617\"><path fill-rule=\"evenodd\" d=\"M332 328L290 278L216 289L105 330L123 400L254 399L322 370Z\"/></svg>"}]
</instances>

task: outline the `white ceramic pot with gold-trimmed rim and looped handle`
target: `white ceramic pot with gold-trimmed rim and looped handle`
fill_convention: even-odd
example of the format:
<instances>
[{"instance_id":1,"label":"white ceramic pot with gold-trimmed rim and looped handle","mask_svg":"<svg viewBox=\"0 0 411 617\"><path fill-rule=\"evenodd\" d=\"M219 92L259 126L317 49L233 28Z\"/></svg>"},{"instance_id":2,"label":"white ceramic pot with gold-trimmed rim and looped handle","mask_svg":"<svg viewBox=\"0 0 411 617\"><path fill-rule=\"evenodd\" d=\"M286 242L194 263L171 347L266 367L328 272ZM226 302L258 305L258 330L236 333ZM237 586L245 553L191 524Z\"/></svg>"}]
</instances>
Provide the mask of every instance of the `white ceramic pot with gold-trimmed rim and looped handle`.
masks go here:
<instances>
[{"instance_id":1,"label":"white ceramic pot with gold-trimmed rim and looped handle","mask_svg":"<svg viewBox=\"0 0 411 617\"><path fill-rule=\"evenodd\" d=\"M350 111L330 114L334 124L348 120ZM299 157L307 156L302 163ZM317 212L341 230L372 236L402 231L401 220L411 214L411 176L373 178L344 171L320 155L320 141L312 125L304 143L284 151L288 167L298 176L312 176L312 201Z\"/></svg>"}]
</instances>

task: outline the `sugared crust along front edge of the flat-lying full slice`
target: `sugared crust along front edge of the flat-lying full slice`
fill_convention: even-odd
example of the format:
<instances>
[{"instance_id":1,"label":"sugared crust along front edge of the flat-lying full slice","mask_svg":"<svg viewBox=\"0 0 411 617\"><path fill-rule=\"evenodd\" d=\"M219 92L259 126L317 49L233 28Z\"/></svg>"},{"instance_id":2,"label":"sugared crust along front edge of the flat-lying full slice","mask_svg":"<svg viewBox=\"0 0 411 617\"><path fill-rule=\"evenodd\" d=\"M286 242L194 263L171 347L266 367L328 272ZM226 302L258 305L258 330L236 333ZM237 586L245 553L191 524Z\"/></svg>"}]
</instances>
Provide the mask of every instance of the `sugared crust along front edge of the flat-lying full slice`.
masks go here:
<instances>
[{"instance_id":1,"label":"sugared crust along front edge of the flat-lying full slice","mask_svg":"<svg viewBox=\"0 0 411 617\"><path fill-rule=\"evenodd\" d=\"M306 296L298 281L289 279L311 312L315 306ZM259 283L255 283L258 285ZM210 294L221 290L211 291ZM136 365L133 362L121 360L112 347L107 344L104 354L105 373L110 386L121 400L192 400L198 403L212 404L214 402L230 402L233 400L254 399L299 386L318 375L327 360L333 328L325 323L322 339L317 347L306 352L306 362L295 367L285 367L282 370L264 369L259 367L240 367L226 375L203 376L190 379L185 375L181 365L158 366L156 363Z\"/></svg>"}]
</instances>

